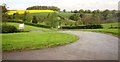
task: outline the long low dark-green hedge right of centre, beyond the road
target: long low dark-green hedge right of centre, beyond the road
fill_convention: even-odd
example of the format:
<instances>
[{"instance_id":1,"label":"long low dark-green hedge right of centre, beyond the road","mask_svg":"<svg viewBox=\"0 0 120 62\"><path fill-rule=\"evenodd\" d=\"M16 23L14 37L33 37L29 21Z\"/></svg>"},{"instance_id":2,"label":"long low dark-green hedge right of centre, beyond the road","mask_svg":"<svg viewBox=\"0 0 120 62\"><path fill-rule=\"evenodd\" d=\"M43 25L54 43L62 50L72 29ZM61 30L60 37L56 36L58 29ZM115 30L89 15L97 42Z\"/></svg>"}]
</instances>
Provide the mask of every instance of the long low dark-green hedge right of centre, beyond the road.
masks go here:
<instances>
[{"instance_id":1,"label":"long low dark-green hedge right of centre, beyond the road","mask_svg":"<svg viewBox=\"0 0 120 62\"><path fill-rule=\"evenodd\" d=\"M74 27L64 26L62 28L63 29L99 29L103 27L101 25L85 25L85 26L74 26Z\"/></svg>"}]
</instances>

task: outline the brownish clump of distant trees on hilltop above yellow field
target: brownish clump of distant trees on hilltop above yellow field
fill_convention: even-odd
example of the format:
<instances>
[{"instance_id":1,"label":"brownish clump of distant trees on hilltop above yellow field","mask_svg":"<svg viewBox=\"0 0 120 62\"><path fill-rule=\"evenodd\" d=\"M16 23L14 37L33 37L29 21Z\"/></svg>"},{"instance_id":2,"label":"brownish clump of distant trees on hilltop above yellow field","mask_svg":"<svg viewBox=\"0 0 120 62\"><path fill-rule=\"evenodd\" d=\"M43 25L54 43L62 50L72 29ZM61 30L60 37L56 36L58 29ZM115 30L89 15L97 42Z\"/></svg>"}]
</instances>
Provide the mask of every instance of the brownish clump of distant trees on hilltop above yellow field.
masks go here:
<instances>
[{"instance_id":1,"label":"brownish clump of distant trees on hilltop above yellow field","mask_svg":"<svg viewBox=\"0 0 120 62\"><path fill-rule=\"evenodd\" d=\"M55 7L55 6L32 6L32 7L28 7L26 10L54 10L54 11L59 11L60 8Z\"/></svg>"}]
</instances>

